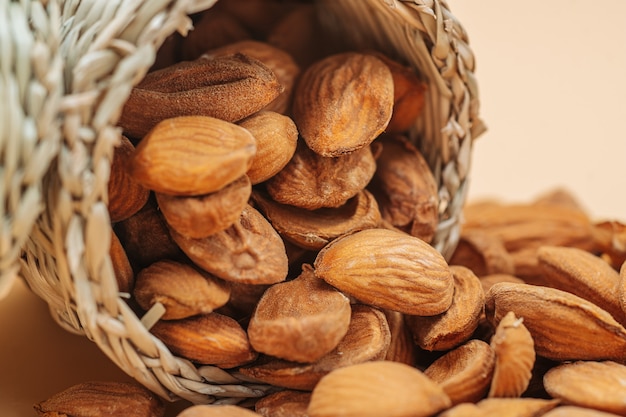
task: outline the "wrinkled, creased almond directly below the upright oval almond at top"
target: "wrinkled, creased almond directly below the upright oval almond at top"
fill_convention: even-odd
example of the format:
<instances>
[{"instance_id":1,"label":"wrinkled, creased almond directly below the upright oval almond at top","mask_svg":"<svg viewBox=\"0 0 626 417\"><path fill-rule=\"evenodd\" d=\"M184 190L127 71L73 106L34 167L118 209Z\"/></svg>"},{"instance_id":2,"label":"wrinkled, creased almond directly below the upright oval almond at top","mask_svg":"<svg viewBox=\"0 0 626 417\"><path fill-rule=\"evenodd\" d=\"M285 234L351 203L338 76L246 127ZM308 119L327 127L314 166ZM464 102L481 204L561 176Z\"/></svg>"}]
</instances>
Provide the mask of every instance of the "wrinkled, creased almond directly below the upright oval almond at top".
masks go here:
<instances>
[{"instance_id":1,"label":"wrinkled, creased almond directly below the upright oval almond at top","mask_svg":"<svg viewBox=\"0 0 626 417\"><path fill-rule=\"evenodd\" d=\"M375 171L371 147L327 158L299 141L293 158L265 184L275 201L316 210L342 206L367 186Z\"/></svg>"}]
</instances>

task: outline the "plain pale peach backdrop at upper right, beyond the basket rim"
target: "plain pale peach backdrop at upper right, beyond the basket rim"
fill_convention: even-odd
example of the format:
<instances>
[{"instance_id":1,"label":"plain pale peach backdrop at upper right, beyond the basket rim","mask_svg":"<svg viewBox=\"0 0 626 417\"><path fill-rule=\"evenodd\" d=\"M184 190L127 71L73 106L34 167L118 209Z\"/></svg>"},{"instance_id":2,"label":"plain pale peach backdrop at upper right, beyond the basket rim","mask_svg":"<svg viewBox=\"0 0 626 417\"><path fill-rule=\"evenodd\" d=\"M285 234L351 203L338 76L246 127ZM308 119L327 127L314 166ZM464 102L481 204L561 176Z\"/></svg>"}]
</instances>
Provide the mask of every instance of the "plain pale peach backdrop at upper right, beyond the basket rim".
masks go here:
<instances>
[{"instance_id":1,"label":"plain pale peach backdrop at upper right, beyond the basket rim","mask_svg":"<svg viewBox=\"0 0 626 417\"><path fill-rule=\"evenodd\" d=\"M626 2L449 0L477 61L470 200L563 187L626 219Z\"/></svg>"}]
</instances>

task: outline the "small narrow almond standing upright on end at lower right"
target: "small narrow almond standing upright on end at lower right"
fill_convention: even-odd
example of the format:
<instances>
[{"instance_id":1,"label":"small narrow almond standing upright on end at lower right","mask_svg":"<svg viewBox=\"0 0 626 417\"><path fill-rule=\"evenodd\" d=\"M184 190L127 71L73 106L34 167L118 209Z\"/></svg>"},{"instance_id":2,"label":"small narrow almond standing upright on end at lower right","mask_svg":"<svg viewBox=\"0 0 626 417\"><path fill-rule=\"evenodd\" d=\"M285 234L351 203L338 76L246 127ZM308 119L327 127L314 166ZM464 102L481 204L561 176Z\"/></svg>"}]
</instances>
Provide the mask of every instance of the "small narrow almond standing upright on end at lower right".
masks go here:
<instances>
[{"instance_id":1,"label":"small narrow almond standing upright on end at lower right","mask_svg":"<svg viewBox=\"0 0 626 417\"><path fill-rule=\"evenodd\" d=\"M528 388L535 365L535 343L523 319L507 313L491 338L496 354L489 397L519 397Z\"/></svg>"}]
</instances>

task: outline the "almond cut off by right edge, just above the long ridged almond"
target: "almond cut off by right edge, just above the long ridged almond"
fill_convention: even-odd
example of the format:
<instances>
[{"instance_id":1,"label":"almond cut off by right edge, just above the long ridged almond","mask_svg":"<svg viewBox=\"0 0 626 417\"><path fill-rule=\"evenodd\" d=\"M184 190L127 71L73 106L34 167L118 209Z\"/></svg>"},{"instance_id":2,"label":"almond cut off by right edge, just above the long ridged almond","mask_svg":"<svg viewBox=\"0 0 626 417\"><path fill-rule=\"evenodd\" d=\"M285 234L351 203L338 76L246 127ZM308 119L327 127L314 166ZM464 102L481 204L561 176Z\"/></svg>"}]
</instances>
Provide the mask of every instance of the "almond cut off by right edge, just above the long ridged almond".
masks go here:
<instances>
[{"instance_id":1,"label":"almond cut off by right edge, just above the long ridged almond","mask_svg":"<svg viewBox=\"0 0 626 417\"><path fill-rule=\"evenodd\" d=\"M579 248L543 246L537 250L547 286L589 300L626 323L619 300L619 273L604 259Z\"/></svg>"}]
</instances>

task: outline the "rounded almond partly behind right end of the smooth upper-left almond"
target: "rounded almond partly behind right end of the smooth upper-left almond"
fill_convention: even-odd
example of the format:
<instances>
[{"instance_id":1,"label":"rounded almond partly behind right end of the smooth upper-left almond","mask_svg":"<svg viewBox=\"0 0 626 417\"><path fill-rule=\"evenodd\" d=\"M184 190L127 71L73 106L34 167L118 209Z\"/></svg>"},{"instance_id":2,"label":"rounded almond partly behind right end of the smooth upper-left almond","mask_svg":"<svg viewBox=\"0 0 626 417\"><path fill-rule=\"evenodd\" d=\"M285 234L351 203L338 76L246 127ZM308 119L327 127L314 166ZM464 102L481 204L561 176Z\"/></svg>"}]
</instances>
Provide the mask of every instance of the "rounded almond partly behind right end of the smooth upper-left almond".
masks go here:
<instances>
[{"instance_id":1,"label":"rounded almond partly behind right end of the smooth upper-left almond","mask_svg":"<svg viewBox=\"0 0 626 417\"><path fill-rule=\"evenodd\" d=\"M260 111L239 122L256 141L257 151L247 175L258 184L276 175L296 152L298 128L291 118L272 111Z\"/></svg>"}]
</instances>

